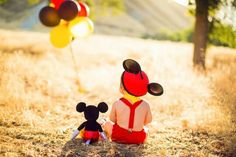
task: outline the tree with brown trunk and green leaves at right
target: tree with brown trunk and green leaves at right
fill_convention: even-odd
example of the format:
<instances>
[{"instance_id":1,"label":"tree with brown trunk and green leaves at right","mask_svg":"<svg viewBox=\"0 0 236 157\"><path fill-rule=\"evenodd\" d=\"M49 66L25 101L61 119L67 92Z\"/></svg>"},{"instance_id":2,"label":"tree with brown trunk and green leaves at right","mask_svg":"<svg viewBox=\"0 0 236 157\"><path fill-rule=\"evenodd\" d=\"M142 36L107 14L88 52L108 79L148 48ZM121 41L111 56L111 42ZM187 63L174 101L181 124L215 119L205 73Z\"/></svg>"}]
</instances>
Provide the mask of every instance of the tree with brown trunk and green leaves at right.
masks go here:
<instances>
[{"instance_id":1,"label":"tree with brown trunk and green leaves at right","mask_svg":"<svg viewBox=\"0 0 236 157\"><path fill-rule=\"evenodd\" d=\"M214 35L215 33L219 33L221 31L220 29L222 29L222 31L225 29L224 25L222 25L222 19L217 19L216 13L223 6L236 7L236 0L189 0L189 4L196 5L193 63L194 66L200 66L205 69L205 55L209 34ZM226 29L229 30L229 26L226 27ZM227 35L230 34L227 33ZM229 40L233 40L234 37L235 35L233 34L232 38ZM220 38L220 36L218 36L218 38ZM227 42L227 39L225 41ZM234 43L234 41L231 42Z\"/></svg>"}]
</instances>

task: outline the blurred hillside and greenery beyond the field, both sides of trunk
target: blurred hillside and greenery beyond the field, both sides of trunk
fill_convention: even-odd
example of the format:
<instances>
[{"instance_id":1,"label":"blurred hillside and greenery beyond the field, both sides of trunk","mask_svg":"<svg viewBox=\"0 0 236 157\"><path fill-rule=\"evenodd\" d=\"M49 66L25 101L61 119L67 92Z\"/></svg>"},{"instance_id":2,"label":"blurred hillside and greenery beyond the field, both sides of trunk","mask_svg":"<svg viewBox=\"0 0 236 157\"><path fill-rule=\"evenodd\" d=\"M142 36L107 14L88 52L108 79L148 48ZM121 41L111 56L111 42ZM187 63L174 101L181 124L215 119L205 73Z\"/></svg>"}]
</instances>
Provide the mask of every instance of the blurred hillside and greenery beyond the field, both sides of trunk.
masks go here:
<instances>
[{"instance_id":1,"label":"blurred hillside and greenery beyond the field, both sides of trunk","mask_svg":"<svg viewBox=\"0 0 236 157\"><path fill-rule=\"evenodd\" d=\"M194 0L88 0L95 33L193 41ZM38 20L46 0L1 0L1 28L48 31ZM235 48L235 2L209 0L209 40Z\"/></svg>"}]
</instances>

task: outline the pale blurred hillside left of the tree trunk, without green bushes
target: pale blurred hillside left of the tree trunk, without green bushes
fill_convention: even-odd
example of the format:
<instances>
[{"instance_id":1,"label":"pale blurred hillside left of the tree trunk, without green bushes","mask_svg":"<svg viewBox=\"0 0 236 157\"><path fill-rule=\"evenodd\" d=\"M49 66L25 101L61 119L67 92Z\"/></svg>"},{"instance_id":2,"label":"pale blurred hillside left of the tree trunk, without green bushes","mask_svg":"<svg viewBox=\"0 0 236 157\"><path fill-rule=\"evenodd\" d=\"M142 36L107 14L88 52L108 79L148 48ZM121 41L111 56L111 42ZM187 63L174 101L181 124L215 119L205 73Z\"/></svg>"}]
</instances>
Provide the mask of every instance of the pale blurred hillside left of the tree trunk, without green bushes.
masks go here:
<instances>
[{"instance_id":1,"label":"pale blurred hillside left of the tree trunk, without green bushes","mask_svg":"<svg viewBox=\"0 0 236 157\"><path fill-rule=\"evenodd\" d=\"M47 3L39 0L5 2L1 5L1 27L45 30L37 17ZM161 31L183 31L193 24L185 1L97 0L88 4L92 7L96 33L143 37Z\"/></svg>"}]
</instances>

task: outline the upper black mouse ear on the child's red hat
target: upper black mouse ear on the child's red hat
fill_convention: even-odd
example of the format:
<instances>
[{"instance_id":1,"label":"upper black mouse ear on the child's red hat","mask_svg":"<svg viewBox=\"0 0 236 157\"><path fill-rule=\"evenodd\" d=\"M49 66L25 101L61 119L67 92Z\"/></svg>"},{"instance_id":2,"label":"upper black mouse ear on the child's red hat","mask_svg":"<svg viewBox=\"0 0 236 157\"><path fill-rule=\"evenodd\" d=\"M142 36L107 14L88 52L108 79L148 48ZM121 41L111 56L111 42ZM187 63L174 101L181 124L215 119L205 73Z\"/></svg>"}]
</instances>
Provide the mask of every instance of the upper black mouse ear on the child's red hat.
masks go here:
<instances>
[{"instance_id":1,"label":"upper black mouse ear on the child's red hat","mask_svg":"<svg viewBox=\"0 0 236 157\"><path fill-rule=\"evenodd\" d=\"M141 71L140 65L138 64L138 62L136 62L133 59L124 60L123 67L125 71L133 73L133 74L137 74Z\"/></svg>"}]
</instances>

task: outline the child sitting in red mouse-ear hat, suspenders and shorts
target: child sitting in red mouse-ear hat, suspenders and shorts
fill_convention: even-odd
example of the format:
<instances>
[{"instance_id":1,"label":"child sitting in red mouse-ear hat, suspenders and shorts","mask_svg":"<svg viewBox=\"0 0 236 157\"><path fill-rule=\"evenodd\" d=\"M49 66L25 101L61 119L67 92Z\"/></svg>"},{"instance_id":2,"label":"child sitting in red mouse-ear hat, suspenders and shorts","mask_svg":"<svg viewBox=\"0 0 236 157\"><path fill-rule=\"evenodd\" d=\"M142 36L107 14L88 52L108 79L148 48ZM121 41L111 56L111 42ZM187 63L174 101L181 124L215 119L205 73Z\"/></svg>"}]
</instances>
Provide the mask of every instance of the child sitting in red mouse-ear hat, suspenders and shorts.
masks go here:
<instances>
[{"instance_id":1,"label":"child sitting in red mouse-ear hat, suspenders and shorts","mask_svg":"<svg viewBox=\"0 0 236 157\"><path fill-rule=\"evenodd\" d=\"M110 120L103 124L112 141L125 144L144 143L147 133L144 126L152 121L149 104L140 97L150 93L162 95L160 84L149 83L140 65L127 59L123 62L125 71L121 76L120 92L123 97L111 109Z\"/></svg>"}]
</instances>

